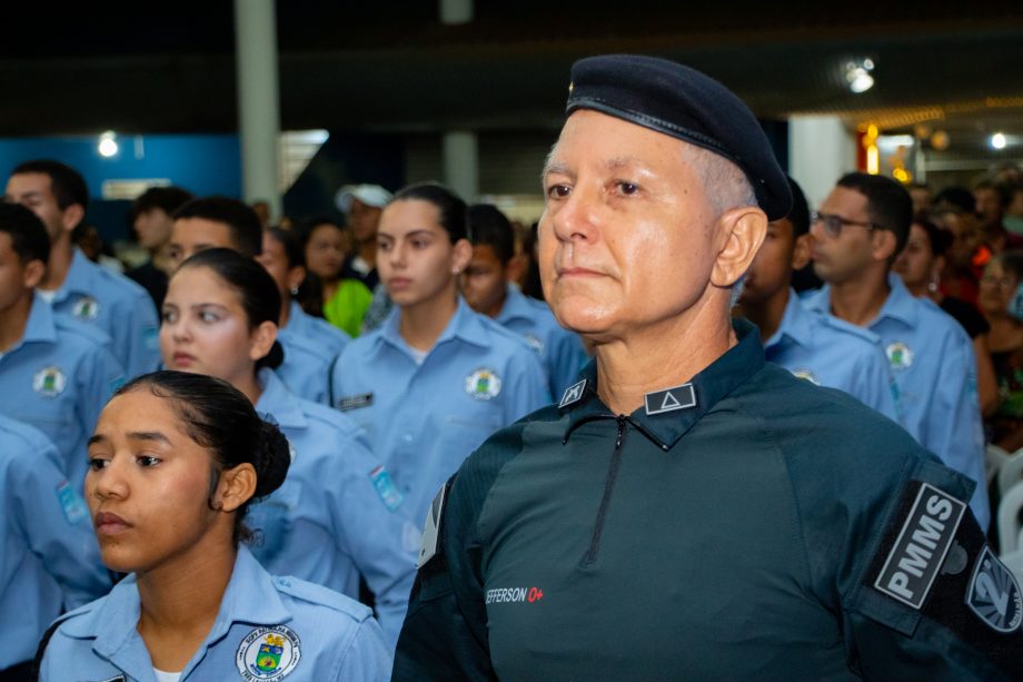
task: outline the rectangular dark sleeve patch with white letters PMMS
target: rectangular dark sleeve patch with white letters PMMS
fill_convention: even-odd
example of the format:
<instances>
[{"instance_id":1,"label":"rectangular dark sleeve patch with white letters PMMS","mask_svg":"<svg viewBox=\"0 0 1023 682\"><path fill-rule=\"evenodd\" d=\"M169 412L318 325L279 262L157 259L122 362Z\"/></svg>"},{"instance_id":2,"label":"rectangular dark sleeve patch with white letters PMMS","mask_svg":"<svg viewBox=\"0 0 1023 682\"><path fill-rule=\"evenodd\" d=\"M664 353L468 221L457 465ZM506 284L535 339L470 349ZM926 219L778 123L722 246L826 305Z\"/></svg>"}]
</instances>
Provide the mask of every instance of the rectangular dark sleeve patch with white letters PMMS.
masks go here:
<instances>
[{"instance_id":1,"label":"rectangular dark sleeve patch with white letters PMMS","mask_svg":"<svg viewBox=\"0 0 1023 682\"><path fill-rule=\"evenodd\" d=\"M941 570L966 503L933 485L921 484L874 587L920 609Z\"/></svg>"}]
</instances>

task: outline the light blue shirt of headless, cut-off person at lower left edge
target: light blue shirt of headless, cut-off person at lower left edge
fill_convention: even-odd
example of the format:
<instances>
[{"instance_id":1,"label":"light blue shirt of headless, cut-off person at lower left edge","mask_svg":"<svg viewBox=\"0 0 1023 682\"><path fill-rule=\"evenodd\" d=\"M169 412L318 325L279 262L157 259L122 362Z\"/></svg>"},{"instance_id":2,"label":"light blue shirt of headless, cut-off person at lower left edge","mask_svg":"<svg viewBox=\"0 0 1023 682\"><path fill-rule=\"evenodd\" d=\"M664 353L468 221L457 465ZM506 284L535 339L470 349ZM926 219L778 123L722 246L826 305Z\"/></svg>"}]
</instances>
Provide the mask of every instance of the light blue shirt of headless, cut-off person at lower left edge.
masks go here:
<instances>
[{"instance_id":1,"label":"light blue shirt of headless, cut-off person at lower left edge","mask_svg":"<svg viewBox=\"0 0 1023 682\"><path fill-rule=\"evenodd\" d=\"M89 510L46 436L0 416L0 670L31 661L64 609L110 590Z\"/></svg>"}]
</instances>

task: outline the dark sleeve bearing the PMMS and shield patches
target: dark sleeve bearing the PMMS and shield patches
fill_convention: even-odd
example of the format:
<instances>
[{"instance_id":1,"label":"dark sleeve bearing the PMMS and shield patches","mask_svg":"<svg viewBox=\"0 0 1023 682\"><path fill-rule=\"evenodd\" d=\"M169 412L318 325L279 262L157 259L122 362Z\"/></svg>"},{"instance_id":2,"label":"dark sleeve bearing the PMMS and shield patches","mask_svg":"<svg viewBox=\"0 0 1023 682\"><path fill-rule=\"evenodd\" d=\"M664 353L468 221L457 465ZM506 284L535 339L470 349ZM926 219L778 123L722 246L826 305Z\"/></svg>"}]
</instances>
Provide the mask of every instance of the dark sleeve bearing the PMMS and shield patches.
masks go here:
<instances>
[{"instance_id":1,"label":"dark sleeve bearing the PMMS and shield patches","mask_svg":"<svg viewBox=\"0 0 1023 682\"><path fill-rule=\"evenodd\" d=\"M1023 679L1019 582L953 476L924 464L864 546L866 570L842 614L850 664L864 679Z\"/></svg>"}]
</instances>

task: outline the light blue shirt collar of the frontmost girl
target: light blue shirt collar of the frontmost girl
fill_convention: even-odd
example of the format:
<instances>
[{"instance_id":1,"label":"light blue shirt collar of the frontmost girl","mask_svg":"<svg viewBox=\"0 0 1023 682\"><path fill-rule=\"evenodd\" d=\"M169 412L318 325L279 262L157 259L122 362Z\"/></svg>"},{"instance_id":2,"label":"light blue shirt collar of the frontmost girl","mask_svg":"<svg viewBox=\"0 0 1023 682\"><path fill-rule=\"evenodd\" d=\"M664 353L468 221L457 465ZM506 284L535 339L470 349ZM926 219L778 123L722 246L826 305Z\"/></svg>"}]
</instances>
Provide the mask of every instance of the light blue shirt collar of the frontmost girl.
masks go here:
<instances>
[{"instance_id":1,"label":"light blue shirt collar of the frontmost girl","mask_svg":"<svg viewBox=\"0 0 1023 682\"><path fill-rule=\"evenodd\" d=\"M103 597L102 604L86 616L68 621L62 632L77 639L95 639L92 650L135 679L151 675L149 652L139 636L139 590L135 574L129 575ZM234 623L277 625L291 620L291 612L280 601L272 577L245 546L238 548L235 570L228 582L217 620L202 646L185 671L201 661L206 650L228 633ZM183 675L182 675L183 676Z\"/></svg>"}]
</instances>

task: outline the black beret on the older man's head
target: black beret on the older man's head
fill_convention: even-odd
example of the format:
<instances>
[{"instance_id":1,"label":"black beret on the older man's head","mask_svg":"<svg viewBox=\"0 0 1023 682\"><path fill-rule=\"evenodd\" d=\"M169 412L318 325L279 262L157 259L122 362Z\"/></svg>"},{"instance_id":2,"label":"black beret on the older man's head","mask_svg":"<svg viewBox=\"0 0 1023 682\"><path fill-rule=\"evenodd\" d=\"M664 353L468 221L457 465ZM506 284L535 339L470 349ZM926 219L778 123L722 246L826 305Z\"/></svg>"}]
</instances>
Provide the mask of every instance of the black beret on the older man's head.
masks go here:
<instances>
[{"instance_id":1,"label":"black beret on the older man's head","mask_svg":"<svg viewBox=\"0 0 1023 682\"><path fill-rule=\"evenodd\" d=\"M738 166L769 220L788 215L792 191L763 128L731 90L681 63L638 55L580 59L565 113L593 109L703 147Z\"/></svg>"}]
</instances>

